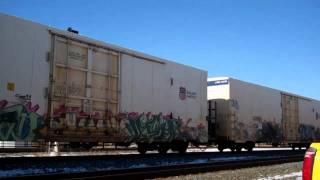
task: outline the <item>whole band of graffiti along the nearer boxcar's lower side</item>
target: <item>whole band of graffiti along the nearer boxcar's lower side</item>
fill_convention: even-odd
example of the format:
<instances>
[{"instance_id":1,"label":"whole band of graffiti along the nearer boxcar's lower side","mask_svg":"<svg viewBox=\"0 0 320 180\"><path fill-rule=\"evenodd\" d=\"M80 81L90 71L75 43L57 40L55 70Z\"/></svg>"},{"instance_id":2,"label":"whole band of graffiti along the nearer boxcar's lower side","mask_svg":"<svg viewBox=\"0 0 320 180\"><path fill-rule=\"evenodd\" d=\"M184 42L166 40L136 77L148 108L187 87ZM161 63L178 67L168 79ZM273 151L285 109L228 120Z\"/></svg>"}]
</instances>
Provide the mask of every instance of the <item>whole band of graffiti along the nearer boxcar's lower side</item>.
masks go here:
<instances>
[{"instance_id":1,"label":"whole band of graffiti along the nearer boxcar's lower side","mask_svg":"<svg viewBox=\"0 0 320 180\"><path fill-rule=\"evenodd\" d=\"M44 116L37 113L39 105L31 102L8 105L8 101L0 101L0 140L2 141L33 141L41 136L44 126ZM121 137L128 142L141 141L172 141L195 140L205 142L206 128L203 124L191 127L192 119L175 118L172 114L163 115L137 112L113 114L106 110L86 113L79 107L64 105L55 109L50 118L50 128L68 132L86 132L83 135L93 135L97 130L103 130L106 136ZM59 132L63 132L59 131ZM60 134L60 135L63 135ZM67 138L67 136L65 136Z\"/></svg>"}]
</instances>

